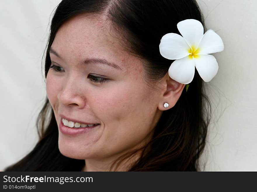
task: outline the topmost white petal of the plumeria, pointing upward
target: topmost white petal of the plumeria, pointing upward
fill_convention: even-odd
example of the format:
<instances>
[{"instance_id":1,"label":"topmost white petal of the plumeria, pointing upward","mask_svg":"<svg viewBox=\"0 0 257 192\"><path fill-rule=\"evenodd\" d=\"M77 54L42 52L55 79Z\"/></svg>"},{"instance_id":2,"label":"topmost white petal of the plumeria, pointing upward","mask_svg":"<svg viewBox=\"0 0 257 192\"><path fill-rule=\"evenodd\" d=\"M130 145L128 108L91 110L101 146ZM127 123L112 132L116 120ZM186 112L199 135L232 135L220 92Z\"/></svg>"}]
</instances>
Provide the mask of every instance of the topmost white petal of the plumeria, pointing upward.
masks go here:
<instances>
[{"instance_id":1,"label":"topmost white petal of the plumeria, pointing upward","mask_svg":"<svg viewBox=\"0 0 257 192\"><path fill-rule=\"evenodd\" d=\"M204 35L204 27L200 21L195 19L186 19L180 21L177 27L190 47L198 46Z\"/></svg>"}]
</instances>

